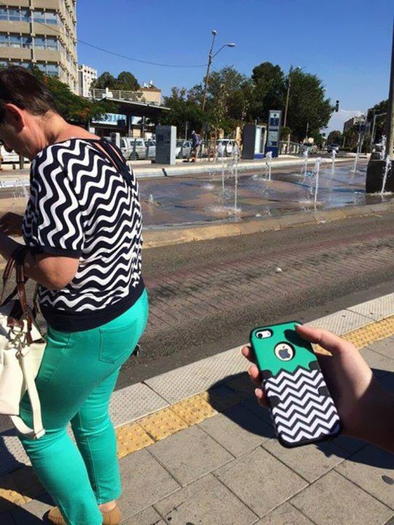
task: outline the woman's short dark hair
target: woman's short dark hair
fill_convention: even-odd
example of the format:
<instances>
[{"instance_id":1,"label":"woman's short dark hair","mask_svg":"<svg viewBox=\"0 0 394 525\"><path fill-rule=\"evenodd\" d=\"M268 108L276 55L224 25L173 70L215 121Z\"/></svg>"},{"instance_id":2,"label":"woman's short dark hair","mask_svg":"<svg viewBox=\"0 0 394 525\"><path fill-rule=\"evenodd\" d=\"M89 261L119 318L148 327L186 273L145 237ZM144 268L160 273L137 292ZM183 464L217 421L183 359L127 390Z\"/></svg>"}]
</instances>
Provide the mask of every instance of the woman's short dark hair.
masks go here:
<instances>
[{"instance_id":1,"label":"woman's short dark hair","mask_svg":"<svg viewBox=\"0 0 394 525\"><path fill-rule=\"evenodd\" d=\"M51 92L24 67L0 69L0 123L4 120L6 104L15 104L33 115L45 115L48 111L58 113Z\"/></svg>"}]
</instances>

